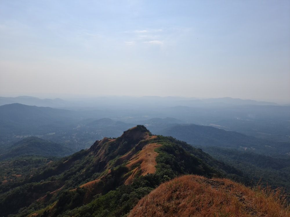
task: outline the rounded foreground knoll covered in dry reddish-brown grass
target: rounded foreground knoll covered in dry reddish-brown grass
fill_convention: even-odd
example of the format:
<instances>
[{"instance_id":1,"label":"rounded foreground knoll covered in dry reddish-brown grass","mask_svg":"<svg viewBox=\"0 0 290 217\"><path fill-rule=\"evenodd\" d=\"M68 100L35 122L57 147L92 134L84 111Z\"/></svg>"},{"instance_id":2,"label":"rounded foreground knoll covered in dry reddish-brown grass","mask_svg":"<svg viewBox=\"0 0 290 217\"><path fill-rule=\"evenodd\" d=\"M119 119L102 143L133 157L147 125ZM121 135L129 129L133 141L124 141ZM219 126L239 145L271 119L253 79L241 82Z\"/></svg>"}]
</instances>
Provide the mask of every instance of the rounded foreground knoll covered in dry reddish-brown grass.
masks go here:
<instances>
[{"instance_id":1,"label":"rounded foreground knoll covered in dry reddish-brown grass","mask_svg":"<svg viewBox=\"0 0 290 217\"><path fill-rule=\"evenodd\" d=\"M289 217L279 191L251 190L229 179L186 175L160 185L142 198L132 216L268 216Z\"/></svg>"}]
</instances>

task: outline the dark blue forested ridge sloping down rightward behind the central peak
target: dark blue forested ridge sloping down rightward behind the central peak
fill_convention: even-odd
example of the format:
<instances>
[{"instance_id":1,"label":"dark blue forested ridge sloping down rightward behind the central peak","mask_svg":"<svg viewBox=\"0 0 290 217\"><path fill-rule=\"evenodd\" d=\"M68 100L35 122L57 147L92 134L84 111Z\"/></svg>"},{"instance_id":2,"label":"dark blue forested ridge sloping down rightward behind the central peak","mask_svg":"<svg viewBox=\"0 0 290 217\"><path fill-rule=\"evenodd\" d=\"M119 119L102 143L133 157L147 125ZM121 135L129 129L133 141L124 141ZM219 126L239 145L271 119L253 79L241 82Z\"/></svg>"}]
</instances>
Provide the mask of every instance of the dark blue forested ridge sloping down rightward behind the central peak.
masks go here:
<instances>
[{"instance_id":1,"label":"dark blue forested ridge sloping down rightward behind the central peak","mask_svg":"<svg viewBox=\"0 0 290 217\"><path fill-rule=\"evenodd\" d=\"M283 187L290 192L289 142L259 139L195 124L171 124L163 128L154 126L148 126L148 129L201 148L215 159L241 170L256 183L269 183L272 187Z\"/></svg>"}]
</instances>

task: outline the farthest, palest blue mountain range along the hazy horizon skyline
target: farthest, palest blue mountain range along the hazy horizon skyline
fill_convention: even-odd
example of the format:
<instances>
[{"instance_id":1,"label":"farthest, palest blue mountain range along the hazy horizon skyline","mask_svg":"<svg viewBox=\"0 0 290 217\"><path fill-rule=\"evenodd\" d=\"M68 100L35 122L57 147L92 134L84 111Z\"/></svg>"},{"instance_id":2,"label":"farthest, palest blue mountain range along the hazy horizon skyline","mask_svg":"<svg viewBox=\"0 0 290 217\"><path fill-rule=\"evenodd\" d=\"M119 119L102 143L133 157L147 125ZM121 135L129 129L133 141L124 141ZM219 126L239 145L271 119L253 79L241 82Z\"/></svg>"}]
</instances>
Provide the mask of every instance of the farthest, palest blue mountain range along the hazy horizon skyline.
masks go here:
<instances>
[{"instance_id":1,"label":"farthest, palest blue mountain range along the hazy horizon skyline","mask_svg":"<svg viewBox=\"0 0 290 217\"><path fill-rule=\"evenodd\" d=\"M104 107L112 106L115 103L120 107L131 106L146 106L148 104L155 104L156 106L218 106L224 104L232 105L278 105L273 102L259 102L255 100L242 100L237 98L209 98L196 99L184 97L158 97L158 96L143 96L143 97L126 97L126 96L112 96L112 97L95 97L82 98L72 100L56 99L40 99L31 96L18 97L0 97L0 106L5 104L20 103L32 106L43 106L52 108L69 108L69 107Z\"/></svg>"}]
</instances>

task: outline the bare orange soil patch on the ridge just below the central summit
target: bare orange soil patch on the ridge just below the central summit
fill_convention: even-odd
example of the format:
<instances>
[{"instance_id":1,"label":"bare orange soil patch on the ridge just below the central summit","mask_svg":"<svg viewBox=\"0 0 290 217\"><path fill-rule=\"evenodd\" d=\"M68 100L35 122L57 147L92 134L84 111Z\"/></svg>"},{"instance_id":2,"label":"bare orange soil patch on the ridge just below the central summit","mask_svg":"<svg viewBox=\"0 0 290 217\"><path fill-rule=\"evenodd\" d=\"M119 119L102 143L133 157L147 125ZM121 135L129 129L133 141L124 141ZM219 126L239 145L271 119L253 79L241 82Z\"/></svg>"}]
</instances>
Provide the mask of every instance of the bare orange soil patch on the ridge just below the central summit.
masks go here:
<instances>
[{"instance_id":1,"label":"bare orange soil patch on the ridge just below the central summit","mask_svg":"<svg viewBox=\"0 0 290 217\"><path fill-rule=\"evenodd\" d=\"M129 176L129 178L125 181L126 185L132 183L135 173L138 170L142 171L141 175L143 176L148 173L154 173L156 171L155 165L157 165L157 163L155 161L155 158L157 157L158 153L155 152L154 149L160 146L161 144L157 144L157 143L148 144L144 146L138 154L134 155L130 159L130 163L127 164L126 167L131 169L131 167L137 163L140 164L140 167L139 168L137 167L133 170L133 173L131 174L131 176Z\"/></svg>"}]
</instances>

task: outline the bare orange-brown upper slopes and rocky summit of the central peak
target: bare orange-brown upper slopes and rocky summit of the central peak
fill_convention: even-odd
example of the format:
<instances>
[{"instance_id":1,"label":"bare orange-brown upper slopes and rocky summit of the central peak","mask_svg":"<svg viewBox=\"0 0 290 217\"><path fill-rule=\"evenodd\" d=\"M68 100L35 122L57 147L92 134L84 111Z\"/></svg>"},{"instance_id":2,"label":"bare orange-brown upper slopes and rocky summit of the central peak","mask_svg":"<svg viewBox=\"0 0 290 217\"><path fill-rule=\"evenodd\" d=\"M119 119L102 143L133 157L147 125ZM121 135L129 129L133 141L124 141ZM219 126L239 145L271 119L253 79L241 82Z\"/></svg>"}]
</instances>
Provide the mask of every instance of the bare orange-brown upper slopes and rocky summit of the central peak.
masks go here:
<instances>
[{"instance_id":1,"label":"bare orange-brown upper slopes and rocky summit of the central peak","mask_svg":"<svg viewBox=\"0 0 290 217\"><path fill-rule=\"evenodd\" d=\"M90 148L91 154L96 156L96 163L102 164L102 169L107 170L107 172L98 177L97 180L85 183L80 187L93 189L96 187L99 180L107 179L107 177L111 175L111 168L121 165L124 161L128 161L126 167L131 173L131 175L124 180L126 185L133 182L136 174L146 175L148 173L154 173L156 170L155 165L157 165L155 158L158 155L154 149L161 146L161 144L151 143L151 140L155 138L156 136L150 136L148 132L143 132L137 127L133 127L125 131L124 134L117 139L109 139L105 137L102 140L96 141ZM121 150L120 146L123 146ZM115 148L108 153L109 147ZM126 152L126 154L124 154L124 152ZM114 157L117 154L124 155L121 157L117 156L115 161L111 163L109 160L112 157L108 157L108 154L113 154L112 156Z\"/></svg>"}]
</instances>

